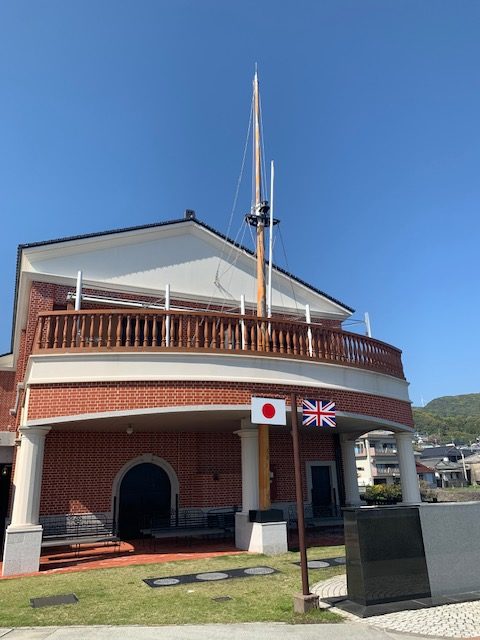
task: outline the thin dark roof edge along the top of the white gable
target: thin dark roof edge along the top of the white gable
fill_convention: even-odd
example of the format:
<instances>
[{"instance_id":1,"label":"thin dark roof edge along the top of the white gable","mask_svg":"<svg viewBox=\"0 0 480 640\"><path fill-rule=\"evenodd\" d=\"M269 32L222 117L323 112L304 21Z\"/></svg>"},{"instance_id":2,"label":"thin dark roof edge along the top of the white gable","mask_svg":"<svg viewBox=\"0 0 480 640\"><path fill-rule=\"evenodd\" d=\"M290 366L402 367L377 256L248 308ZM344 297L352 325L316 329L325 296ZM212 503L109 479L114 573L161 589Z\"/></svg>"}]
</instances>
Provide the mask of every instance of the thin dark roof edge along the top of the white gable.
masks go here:
<instances>
[{"instance_id":1,"label":"thin dark roof edge along the top of the white gable","mask_svg":"<svg viewBox=\"0 0 480 640\"><path fill-rule=\"evenodd\" d=\"M185 223L190 223L190 224L194 223L198 227L209 231L210 233L214 234L218 238L220 238L220 239L224 240L225 242L229 243L233 247L236 247L236 248L240 249L241 251L246 252L247 254L249 254L251 256L255 255L255 252L252 251L251 249L249 249L248 247L245 247L244 245L236 242L235 240L232 240L231 238L229 238L225 234L217 231L216 229L214 229L210 225L206 224L205 222L202 222L202 221L198 220L197 218L179 218L179 219L167 220L167 221L163 221L163 222L154 222L154 223L145 224L145 225L136 225L136 226L132 226L132 227L122 227L120 229L109 229L109 230L106 230L106 231L99 231L99 232L95 232L95 233L87 233L87 234L81 234L81 235L75 235L75 236L67 236L67 237L62 237L62 238L54 238L54 239L51 239L51 240L43 240L43 241L40 241L40 242L32 242L32 243L20 244L18 246L18 251L17 251L17 269L16 269L16 281L15 281L15 295L14 295L14 302L13 302L13 322L12 322L12 339L11 339L11 348L12 348L12 350L13 350L15 322L16 322L16 315L17 315L17 302L18 302L18 289L19 289L19 280L20 280L20 272L21 272L21 259L22 259L22 253L23 253L23 251L25 249L31 249L31 248L35 248L35 247L43 247L43 246L46 246L46 245L60 244L62 242L74 242L75 240L85 240L85 239L89 239L89 238L98 238L98 237L102 237L102 236L112 236L112 235L121 234L121 233L128 233L128 232L134 232L134 231L143 231L143 230L147 230L147 229L157 229L157 228L160 228L160 227L181 225L181 224L185 224ZM274 269L277 272L287 276L291 280L293 280L293 281L297 282L298 284L306 287L307 289L309 289L313 293L321 295L322 297L326 298L327 300L330 300L334 304L340 306L342 309L344 309L349 314L354 312L354 309L352 309L351 307L348 307L347 305L345 305L340 300L334 298L333 296L328 295L324 291L318 289L317 287L314 287L313 285L311 285L308 282L302 280L301 278L298 278L297 276L293 275L289 271L286 271L285 269L282 269L281 267L279 267L277 265L273 265L273 266L274 266Z\"/></svg>"}]
</instances>

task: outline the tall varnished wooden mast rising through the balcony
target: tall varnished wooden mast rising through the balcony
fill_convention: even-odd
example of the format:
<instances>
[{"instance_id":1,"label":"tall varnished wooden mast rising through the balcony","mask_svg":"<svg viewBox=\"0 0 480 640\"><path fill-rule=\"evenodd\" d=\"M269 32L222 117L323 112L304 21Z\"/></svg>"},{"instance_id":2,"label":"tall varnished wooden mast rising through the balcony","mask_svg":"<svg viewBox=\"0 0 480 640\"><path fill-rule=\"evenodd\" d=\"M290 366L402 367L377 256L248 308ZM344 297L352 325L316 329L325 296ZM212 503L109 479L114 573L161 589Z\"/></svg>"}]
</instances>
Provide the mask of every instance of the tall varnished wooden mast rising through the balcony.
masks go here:
<instances>
[{"instance_id":1,"label":"tall varnished wooden mast rising through the balcony","mask_svg":"<svg viewBox=\"0 0 480 640\"><path fill-rule=\"evenodd\" d=\"M265 318L267 313L267 294L265 286L265 214L268 205L262 200L262 143L260 132L260 93L258 73L253 78L254 109L254 164L255 164L255 203L252 211L252 223L257 228L257 318ZM265 349L265 322L257 326L260 332L261 349ZM260 509L270 509L270 438L268 424L258 426L258 488Z\"/></svg>"}]
</instances>

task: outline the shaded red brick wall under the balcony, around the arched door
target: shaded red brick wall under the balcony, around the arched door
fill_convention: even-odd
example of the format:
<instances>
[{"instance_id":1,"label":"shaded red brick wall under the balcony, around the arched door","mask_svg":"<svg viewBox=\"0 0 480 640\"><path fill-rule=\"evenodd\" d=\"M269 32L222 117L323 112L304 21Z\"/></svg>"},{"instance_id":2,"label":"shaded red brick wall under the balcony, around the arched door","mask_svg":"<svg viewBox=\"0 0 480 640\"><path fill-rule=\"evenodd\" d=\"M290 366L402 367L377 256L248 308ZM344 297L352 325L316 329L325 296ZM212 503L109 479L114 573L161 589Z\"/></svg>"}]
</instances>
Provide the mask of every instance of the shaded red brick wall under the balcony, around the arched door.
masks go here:
<instances>
[{"instance_id":1,"label":"shaded red brick wall under the balcony, around the arched door","mask_svg":"<svg viewBox=\"0 0 480 640\"><path fill-rule=\"evenodd\" d=\"M166 460L180 485L180 507L241 506L240 439L233 433L61 433L47 435L41 515L110 511L114 479L143 454ZM271 431L276 501L295 500L292 439ZM307 461L335 460L333 436L301 435L305 498Z\"/></svg>"}]
</instances>

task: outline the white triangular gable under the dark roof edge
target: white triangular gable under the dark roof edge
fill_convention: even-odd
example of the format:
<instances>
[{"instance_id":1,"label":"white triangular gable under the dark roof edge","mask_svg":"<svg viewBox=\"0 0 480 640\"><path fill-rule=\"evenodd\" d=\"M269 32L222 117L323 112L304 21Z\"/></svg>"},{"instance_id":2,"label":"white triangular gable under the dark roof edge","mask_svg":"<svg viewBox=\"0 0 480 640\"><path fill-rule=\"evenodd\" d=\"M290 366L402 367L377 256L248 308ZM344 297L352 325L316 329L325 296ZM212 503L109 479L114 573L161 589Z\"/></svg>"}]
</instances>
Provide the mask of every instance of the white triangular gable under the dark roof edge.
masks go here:
<instances>
[{"instance_id":1,"label":"white triangular gable under the dark roof edge","mask_svg":"<svg viewBox=\"0 0 480 640\"><path fill-rule=\"evenodd\" d=\"M162 299L170 284L173 298L247 306L256 305L255 258L192 221L27 247L22 274L71 284L78 270L84 285L135 291ZM274 311L342 320L347 309L280 271L274 270Z\"/></svg>"}]
</instances>

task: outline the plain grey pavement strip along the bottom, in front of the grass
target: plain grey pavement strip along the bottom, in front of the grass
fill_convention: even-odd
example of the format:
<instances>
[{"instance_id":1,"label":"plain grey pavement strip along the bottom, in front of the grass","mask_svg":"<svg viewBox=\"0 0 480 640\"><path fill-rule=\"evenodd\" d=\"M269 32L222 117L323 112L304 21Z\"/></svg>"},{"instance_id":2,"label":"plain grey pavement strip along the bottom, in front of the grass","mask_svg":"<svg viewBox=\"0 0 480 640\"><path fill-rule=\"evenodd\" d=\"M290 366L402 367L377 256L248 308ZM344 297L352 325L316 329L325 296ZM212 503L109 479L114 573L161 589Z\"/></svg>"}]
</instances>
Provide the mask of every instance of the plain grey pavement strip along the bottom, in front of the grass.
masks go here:
<instances>
[{"instance_id":1,"label":"plain grey pavement strip along the bottom, in front of the grass","mask_svg":"<svg viewBox=\"0 0 480 640\"><path fill-rule=\"evenodd\" d=\"M208 624L165 627L35 627L0 629L2 640L421 640L358 623Z\"/></svg>"}]
</instances>

